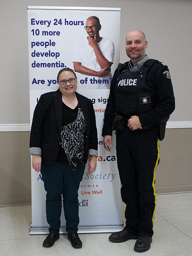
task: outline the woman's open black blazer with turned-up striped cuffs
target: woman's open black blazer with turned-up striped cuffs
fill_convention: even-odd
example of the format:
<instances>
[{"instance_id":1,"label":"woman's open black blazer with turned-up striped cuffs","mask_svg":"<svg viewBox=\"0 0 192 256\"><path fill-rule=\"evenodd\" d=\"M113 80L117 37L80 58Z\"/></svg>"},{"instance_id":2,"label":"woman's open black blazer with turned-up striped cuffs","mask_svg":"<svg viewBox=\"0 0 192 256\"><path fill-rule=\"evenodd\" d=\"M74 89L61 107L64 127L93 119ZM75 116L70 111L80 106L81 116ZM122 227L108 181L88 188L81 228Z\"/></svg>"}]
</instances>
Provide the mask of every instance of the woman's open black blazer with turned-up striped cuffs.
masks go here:
<instances>
[{"instance_id":1,"label":"woman's open black blazer with turned-up striped cuffs","mask_svg":"<svg viewBox=\"0 0 192 256\"><path fill-rule=\"evenodd\" d=\"M86 121L84 162L89 149L98 150L98 137L93 103L76 92ZM41 148L42 163L54 163L59 151L62 124L62 95L60 90L41 95L33 114L30 148Z\"/></svg>"}]
</instances>

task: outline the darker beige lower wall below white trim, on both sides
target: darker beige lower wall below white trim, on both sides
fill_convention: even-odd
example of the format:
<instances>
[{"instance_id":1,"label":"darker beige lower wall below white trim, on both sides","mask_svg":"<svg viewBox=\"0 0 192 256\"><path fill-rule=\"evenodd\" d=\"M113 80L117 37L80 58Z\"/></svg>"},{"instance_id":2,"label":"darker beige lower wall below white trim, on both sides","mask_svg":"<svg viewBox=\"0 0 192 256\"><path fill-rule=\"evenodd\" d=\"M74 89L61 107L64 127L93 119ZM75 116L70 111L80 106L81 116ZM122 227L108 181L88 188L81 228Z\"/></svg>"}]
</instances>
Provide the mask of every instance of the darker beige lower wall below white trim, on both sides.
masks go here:
<instances>
[{"instance_id":1,"label":"darker beige lower wall below white trim, on both sides","mask_svg":"<svg viewBox=\"0 0 192 256\"><path fill-rule=\"evenodd\" d=\"M157 193L192 191L192 129L167 129L160 141ZM31 203L30 132L0 132L0 206Z\"/></svg>"}]
</instances>

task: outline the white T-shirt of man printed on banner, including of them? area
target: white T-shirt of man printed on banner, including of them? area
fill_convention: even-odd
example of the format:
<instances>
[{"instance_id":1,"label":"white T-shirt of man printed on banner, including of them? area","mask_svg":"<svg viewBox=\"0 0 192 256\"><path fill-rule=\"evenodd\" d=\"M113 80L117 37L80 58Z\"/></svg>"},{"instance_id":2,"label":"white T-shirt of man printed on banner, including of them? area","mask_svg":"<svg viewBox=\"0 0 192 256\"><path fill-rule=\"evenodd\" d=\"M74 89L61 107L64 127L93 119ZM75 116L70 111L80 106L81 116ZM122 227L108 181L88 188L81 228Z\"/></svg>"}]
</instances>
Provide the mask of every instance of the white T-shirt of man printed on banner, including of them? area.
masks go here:
<instances>
[{"instance_id":1,"label":"white T-shirt of man printed on banner, including of them? area","mask_svg":"<svg viewBox=\"0 0 192 256\"><path fill-rule=\"evenodd\" d=\"M112 62L114 60L114 43L108 38L102 38L97 43L102 55ZM101 67L96 59L93 48L88 44L88 39L83 38L77 41L74 45L73 62L81 62L82 66L90 68L95 71L100 71ZM109 89L111 85L112 74L109 72L107 76L88 76L77 73L78 89Z\"/></svg>"}]
</instances>

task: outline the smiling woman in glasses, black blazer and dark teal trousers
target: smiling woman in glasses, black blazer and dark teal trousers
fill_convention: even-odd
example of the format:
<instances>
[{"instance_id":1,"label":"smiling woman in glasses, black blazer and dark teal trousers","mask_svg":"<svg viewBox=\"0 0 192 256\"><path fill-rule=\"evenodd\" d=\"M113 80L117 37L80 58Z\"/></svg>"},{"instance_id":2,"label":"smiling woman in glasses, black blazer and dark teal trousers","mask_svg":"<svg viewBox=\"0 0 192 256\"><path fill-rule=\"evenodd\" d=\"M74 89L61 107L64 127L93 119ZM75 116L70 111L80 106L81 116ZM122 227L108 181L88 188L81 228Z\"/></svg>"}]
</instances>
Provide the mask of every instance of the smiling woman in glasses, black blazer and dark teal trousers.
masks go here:
<instances>
[{"instance_id":1,"label":"smiling woman in glasses, black blazer and dark teal trousers","mask_svg":"<svg viewBox=\"0 0 192 256\"><path fill-rule=\"evenodd\" d=\"M61 194L68 239L81 248L78 237L78 189L88 155L88 174L96 170L98 138L91 100L76 92L73 70L63 68L57 76L59 89L41 95L33 115L30 136L32 167L41 171L46 194L46 218L49 235L43 246L51 247L59 239Z\"/></svg>"}]
</instances>

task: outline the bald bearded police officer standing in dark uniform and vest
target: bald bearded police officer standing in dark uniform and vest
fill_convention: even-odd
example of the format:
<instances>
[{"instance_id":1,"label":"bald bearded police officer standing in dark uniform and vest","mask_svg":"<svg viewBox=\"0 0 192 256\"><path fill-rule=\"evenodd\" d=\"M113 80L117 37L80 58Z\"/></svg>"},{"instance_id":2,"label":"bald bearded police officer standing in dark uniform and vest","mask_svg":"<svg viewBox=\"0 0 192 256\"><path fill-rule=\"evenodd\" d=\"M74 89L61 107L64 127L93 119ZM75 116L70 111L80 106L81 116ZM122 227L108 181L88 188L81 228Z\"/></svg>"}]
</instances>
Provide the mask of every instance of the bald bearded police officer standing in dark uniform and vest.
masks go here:
<instances>
[{"instance_id":1,"label":"bald bearded police officer standing in dark uniform and vest","mask_svg":"<svg viewBox=\"0 0 192 256\"><path fill-rule=\"evenodd\" d=\"M165 63L149 59L147 45L141 31L127 34L130 60L114 73L102 131L104 148L110 151L112 123L116 127L121 197L126 204L126 226L109 240L120 243L137 239L134 250L139 252L151 247L153 235L155 170L159 163L156 124L175 109L169 69ZM112 122L114 116L116 122Z\"/></svg>"}]
</instances>

